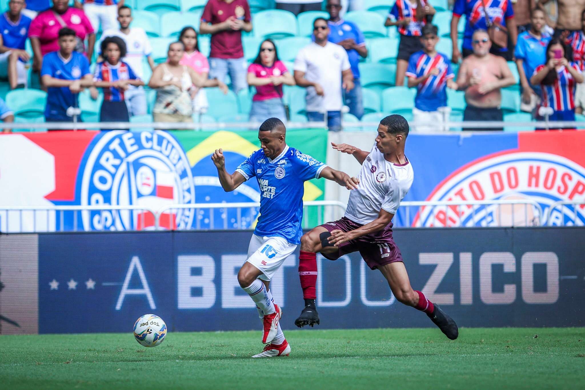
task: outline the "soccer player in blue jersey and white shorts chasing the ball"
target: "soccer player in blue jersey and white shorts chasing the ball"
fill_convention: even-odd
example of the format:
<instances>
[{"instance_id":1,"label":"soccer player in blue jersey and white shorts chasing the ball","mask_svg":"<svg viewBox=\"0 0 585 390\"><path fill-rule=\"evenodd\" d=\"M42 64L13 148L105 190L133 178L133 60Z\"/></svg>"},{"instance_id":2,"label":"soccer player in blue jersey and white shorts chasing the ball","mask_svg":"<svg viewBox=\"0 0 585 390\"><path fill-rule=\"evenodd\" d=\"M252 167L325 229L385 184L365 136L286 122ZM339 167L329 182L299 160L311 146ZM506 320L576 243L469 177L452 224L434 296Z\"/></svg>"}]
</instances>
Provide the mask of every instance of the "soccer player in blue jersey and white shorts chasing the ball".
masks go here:
<instances>
[{"instance_id":1,"label":"soccer player in blue jersey and white shorts chasing the ball","mask_svg":"<svg viewBox=\"0 0 585 390\"><path fill-rule=\"evenodd\" d=\"M264 350L253 357L288 356L290 345L280 327L282 310L274 304L270 279L301 242L302 195L304 182L326 178L347 189L357 188L356 178L287 146L286 129L278 118L269 118L258 132L261 149L255 151L232 174L225 170L222 149L212 156L219 182L225 191L256 177L260 186L260 216L246 262L238 272L240 286L256 302L263 319Z\"/></svg>"}]
</instances>

